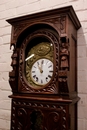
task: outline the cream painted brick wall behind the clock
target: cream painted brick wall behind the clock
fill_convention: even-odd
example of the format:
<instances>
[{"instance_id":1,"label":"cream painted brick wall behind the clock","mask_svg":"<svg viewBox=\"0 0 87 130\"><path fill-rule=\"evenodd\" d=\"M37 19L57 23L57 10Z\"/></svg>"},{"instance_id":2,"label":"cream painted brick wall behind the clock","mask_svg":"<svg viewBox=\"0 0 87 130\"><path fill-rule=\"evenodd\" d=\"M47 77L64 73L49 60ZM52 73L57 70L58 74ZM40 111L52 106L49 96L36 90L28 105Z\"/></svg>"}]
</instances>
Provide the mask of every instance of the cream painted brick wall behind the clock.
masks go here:
<instances>
[{"instance_id":1,"label":"cream painted brick wall behind the clock","mask_svg":"<svg viewBox=\"0 0 87 130\"><path fill-rule=\"evenodd\" d=\"M0 130L10 130L11 26L5 20L67 5L73 5L82 24L78 30L78 130L87 130L87 0L0 0Z\"/></svg>"}]
</instances>

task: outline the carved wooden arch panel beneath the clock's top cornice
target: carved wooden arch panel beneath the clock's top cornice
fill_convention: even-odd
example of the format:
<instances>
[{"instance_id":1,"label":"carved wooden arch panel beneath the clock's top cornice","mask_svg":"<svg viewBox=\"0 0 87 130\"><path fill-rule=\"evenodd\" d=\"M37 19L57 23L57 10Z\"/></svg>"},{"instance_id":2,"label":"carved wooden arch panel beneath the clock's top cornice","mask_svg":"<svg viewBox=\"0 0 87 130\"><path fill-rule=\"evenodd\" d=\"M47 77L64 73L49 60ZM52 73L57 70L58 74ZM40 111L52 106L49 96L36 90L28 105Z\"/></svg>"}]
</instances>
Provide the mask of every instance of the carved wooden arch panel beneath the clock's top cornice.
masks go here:
<instances>
[{"instance_id":1,"label":"carved wooden arch panel beneath the clock's top cornice","mask_svg":"<svg viewBox=\"0 0 87 130\"><path fill-rule=\"evenodd\" d=\"M16 43L17 42L17 38L18 36L27 28L29 28L29 25L32 26L35 24L36 21L25 21L23 23L20 24L15 24L14 28L13 28L13 35L12 35L12 43ZM38 24L49 24L50 26L53 26L55 28L57 28L59 30L59 33L63 34L66 33L66 16L60 16L60 17L56 17L56 18L52 18L49 19L47 18L45 21L44 19L40 20L40 22L37 20Z\"/></svg>"}]
</instances>

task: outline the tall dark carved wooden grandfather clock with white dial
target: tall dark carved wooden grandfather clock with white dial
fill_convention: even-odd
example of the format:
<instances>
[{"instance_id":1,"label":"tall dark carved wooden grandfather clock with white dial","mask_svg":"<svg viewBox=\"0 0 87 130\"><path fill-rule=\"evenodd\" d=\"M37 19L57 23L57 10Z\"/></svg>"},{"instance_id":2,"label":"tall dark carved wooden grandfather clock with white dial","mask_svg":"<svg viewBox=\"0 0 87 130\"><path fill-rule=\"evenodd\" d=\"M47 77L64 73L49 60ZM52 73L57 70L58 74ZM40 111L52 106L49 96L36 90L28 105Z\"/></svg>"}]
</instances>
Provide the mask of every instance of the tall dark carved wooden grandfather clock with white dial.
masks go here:
<instances>
[{"instance_id":1,"label":"tall dark carved wooden grandfather clock with white dial","mask_svg":"<svg viewBox=\"0 0 87 130\"><path fill-rule=\"evenodd\" d=\"M77 130L77 30L72 6L7 20L12 25L10 130Z\"/></svg>"}]
</instances>

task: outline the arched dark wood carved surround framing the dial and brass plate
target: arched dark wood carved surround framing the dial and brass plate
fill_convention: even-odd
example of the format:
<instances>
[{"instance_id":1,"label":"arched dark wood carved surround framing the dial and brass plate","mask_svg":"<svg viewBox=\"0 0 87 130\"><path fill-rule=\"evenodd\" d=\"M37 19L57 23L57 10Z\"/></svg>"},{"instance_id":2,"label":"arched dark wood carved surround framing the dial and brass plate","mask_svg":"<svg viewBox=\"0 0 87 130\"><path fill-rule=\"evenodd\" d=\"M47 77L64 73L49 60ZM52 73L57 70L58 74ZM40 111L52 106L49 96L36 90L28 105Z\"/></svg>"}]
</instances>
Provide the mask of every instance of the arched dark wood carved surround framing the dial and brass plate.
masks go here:
<instances>
[{"instance_id":1,"label":"arched dark wood carved surround framing the dial and brass plate","mask_svg":"<svg viewBox=\"0 0 87 130\"><path fill-rule=\"evenodd\" d=\"M49 84L46 88L43 88L43 89L38 89L38 90L35 90L35 89L32 89L28 83L26 82L26 80L24 79L24 72L23 72L23 66L24 64L19 64L19 76L20 76L20 81L21 81L21 91L27 91L27 92L49 92L49 93L57 93L57 89L58 89L58 86L56 86L56 80L58 78L58 67L59 67L59 41L58 41L58 38L56 38L54 36L54 34L52 32L50 32L49 30L47 29L43 29L43 30L38 30L38 31L35 31L34 33L32 33L31 35L29 35L23 42L23 44L21 45L21 49L20 49L20 57L19 57L19 61L23 61L23 57L24 57L24 51L25 51L25 48L27 46L27 43L29 42L29 40L31 38L33 38L34 36L37 37L37 36L44 36L44 37L47 37L55 46L55 73L54 73L54 78L51 82L51 84Z\"/></svg>"}]
</instances>

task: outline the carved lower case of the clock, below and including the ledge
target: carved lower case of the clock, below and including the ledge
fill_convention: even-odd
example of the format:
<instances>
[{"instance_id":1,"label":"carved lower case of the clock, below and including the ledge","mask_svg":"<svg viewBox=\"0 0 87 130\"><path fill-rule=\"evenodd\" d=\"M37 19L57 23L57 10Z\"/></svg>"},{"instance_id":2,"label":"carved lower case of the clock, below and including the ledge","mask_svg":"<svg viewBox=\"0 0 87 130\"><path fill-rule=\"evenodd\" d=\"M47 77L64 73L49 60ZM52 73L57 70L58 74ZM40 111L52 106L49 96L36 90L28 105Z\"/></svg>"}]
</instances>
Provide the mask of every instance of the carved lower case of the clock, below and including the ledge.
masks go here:
<instances>
[{"instance_id":1,"label":"carved lower case of the clock, below and including the ledge","mask_svg":"<svg viewBox=\"0 0 87 130\"><path fill-rule=\"evenodd\" d=\"M68 97L58 96L44 98L11 95L10 98L12 98L11 130L37 130L37 128L76 130L76 105L73 103L79 98L74 101Z\"/></svg>"}]
</instances>

